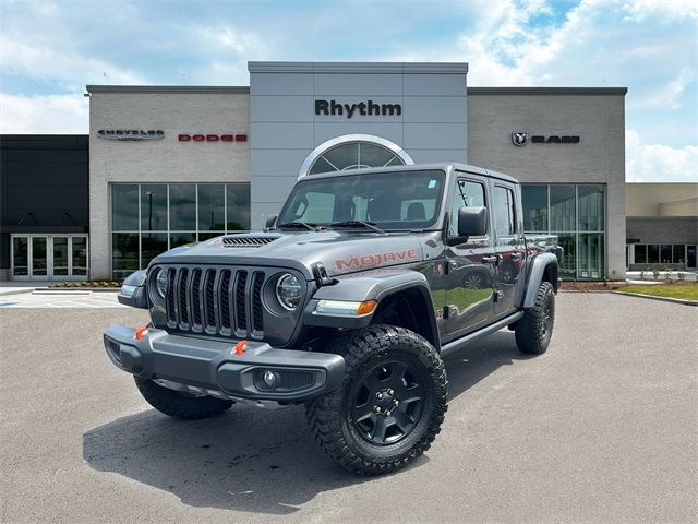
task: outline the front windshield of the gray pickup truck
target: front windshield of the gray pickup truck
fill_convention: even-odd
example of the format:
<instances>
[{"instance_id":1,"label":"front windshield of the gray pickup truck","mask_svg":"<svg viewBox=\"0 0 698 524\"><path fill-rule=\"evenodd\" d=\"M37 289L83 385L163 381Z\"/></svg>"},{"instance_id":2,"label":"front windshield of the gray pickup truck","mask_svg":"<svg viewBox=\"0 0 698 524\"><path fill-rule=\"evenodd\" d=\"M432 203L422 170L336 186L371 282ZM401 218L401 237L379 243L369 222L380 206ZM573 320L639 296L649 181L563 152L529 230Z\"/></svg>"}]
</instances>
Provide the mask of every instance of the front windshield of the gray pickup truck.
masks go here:
<instances>
[{"instance_id":1,"label":"front windshield of the gray pickup truck","mask_svg":"<svg viewBox=\"0 0 698 524\"><path fill-rule=\"evenodd\" d=\"M296 184L277 224L364 221L382 229L425 229L438 217L445 178L441 170L310 177Z\"/></svg>"}]
</instances>

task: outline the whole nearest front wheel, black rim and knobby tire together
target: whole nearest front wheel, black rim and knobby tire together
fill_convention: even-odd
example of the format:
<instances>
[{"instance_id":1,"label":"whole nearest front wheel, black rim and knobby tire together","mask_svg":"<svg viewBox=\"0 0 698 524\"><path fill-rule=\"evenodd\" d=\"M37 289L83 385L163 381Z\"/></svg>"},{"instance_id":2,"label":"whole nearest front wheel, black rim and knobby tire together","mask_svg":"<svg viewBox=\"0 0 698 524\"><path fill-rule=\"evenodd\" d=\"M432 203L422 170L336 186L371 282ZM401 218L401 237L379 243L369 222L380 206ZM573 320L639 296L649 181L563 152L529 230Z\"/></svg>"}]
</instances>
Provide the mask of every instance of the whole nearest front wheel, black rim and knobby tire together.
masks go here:
<instances>
[{"instance_id":1,"label":"whole nearest front wheel, black rim and knobby tire together","mask_svg":"<svg viewBox=\"0 0 698 524\"><path fill-rule=\"evenodd\" d=\"M330 348L345 358L342 388L306 404L320 445L347 469L378 475L426 451L446 413L438 353L404 327L371 325Z\"/></svg>"}]
</instances>

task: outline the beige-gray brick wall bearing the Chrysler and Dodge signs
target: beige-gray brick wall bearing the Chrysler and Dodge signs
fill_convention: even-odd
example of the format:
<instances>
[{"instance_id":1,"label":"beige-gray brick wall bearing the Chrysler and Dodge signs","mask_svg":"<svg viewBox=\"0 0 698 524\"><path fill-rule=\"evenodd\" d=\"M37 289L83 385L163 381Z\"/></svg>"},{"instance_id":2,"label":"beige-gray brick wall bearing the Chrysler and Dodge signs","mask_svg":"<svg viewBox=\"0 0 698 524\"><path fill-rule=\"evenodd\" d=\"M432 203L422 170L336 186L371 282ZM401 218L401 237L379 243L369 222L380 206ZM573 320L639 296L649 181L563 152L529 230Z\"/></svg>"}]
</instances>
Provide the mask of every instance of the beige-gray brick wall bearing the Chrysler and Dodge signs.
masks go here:
<instances>
[{"instance_id":1,"label":"beige-gray brick wall bearing the Chrysler and Dodge signs","mask_svg":"<svg viewBox=\"0 0 698 524\"><path fill-rule=\"evenodd\" d=\"M180 142L180 133L250 134L246 88L88 86L89 267L109 278L112 182L250 180L249 142ZM163 130L157 141L97 138L100 129ZM249 140L249 138L248 138Z\"/></svg>"}]
</instances>

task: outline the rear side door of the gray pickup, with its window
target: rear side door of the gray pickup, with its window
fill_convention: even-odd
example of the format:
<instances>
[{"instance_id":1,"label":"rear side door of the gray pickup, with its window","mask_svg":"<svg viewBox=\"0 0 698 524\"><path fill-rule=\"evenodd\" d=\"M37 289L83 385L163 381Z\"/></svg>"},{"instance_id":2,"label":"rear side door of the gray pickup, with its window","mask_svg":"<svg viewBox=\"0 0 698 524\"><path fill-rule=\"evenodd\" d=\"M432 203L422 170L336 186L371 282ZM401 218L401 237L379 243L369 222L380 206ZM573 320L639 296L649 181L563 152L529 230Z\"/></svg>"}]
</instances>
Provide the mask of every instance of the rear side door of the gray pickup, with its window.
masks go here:
<instances>
[{"instance_id":1,"label":"rear side door of the gray pickup, with its window","mask_svg":"<svg viewBox=\"0 0 698 524\"><path fill-rule=\"evenodd\" d=\"M524 285L521 267L526 257L522 225L517 216L517 199L513 183L493 179L492 213L495 253L494 313L504 317L516 308L517 289Z\"/></svg>"}]
</instances>

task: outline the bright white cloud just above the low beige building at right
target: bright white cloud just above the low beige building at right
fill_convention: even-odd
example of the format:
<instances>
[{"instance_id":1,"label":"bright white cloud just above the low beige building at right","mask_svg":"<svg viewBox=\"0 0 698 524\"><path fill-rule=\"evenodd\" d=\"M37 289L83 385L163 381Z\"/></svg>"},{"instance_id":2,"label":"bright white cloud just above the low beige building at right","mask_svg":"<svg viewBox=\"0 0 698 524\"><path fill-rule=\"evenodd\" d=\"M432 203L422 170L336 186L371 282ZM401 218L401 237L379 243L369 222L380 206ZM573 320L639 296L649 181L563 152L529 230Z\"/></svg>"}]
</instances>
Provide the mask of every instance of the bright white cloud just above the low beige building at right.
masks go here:
<instances>
[{"instance_id":1,"label":"bright white cloud just above the low beige building at right","mask_svg":"<svg viewBox=\"0 0 698 524\"><path fill-rule=\"evenodd\" d=\"M698 145L646 144L635 130L625 132L628 182L698 182Z\"/></svg>"}]
</instances>

